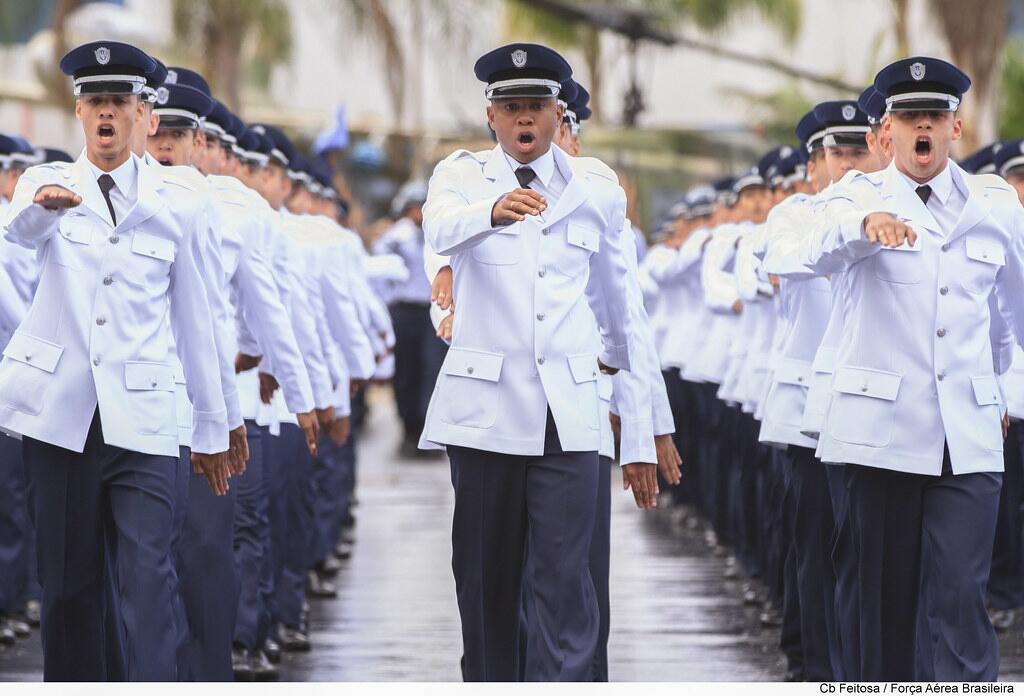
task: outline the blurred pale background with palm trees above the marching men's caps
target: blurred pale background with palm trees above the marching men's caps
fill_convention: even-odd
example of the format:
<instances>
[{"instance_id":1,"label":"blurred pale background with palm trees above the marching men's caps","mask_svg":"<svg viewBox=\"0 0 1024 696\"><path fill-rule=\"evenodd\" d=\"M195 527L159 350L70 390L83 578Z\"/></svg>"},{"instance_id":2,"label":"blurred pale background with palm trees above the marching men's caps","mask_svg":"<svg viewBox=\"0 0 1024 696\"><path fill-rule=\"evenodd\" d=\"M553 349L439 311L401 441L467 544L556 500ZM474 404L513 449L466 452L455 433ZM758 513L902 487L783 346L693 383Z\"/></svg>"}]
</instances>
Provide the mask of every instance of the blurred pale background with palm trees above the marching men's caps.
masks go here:
<instances>
[{"instance_id":1,"label":"blurred pale background with palm trees above the marching men's caps","mask_svg":"<svg viewBox=\"0 0 1024 696\"><path fill-rule=\"evenodd\" d=\"M1024 136L1022 29L1024 0L3 0L0 131L78 151L57 60L130 41L327 151L372 234L402 181L490 146L475 58L536 41L594 95L585 154L623 175L649 228L683 188L794 142L814 102L856 96L904 55L974 79L959 155Z\"/></svg>"}]
</instances>

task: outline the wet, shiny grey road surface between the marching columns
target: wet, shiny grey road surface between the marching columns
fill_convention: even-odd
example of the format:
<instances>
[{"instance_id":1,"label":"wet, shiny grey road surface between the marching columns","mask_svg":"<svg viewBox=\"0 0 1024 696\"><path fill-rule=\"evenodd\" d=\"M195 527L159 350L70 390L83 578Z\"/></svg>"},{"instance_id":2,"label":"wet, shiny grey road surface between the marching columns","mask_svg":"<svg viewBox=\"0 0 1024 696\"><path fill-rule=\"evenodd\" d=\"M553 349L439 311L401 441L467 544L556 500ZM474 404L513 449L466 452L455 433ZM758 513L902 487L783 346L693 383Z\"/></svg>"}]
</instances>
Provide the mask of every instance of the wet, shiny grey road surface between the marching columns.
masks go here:
<instances>
[{"instance_id":1,"label":"wet, shiny grey road surface between the marching columns","mask_svg":"<svg viewBox=\"0 0 1024 696\"><path fill-rule=\"evenodd\" d=\"M314 601L313 649L288 654L289 681L457 681L461 639L451 569L447 462L402 460L383 392L361 433L357 541L336 600ZM744 606L702 529L680 511L637 510L612 472L612 681L778 681L778 632ZM1024 677L1020 627L1002 637L1002 676ZM0 680L38 681L38 634L0 648Z\"/></svg>"}]
</instances>

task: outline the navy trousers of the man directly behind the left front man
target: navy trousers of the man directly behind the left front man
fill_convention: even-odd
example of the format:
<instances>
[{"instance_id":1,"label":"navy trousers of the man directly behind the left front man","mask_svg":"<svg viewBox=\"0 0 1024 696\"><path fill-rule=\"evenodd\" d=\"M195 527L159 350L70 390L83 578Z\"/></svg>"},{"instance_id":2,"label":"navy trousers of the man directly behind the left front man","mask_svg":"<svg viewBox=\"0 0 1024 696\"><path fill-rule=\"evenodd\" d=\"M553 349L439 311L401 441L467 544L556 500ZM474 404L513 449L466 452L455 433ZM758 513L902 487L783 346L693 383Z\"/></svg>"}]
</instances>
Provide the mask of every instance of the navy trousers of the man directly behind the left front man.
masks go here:
<instances>
[{"instance_id":1,"label":"navy trousers of the man directly behind the left front man","mask_svg":"<svg viewBox=\"0 0 1024 696\"><path fill-rule=\"evenodd\" d=\"M185 640L180 681L230 682L231 640L239 609L234 563L234 501L238 478L226 495L214 495L205 476L186 472L188 508L175 562L181 582Z\"/></svg>"}]
</instances>

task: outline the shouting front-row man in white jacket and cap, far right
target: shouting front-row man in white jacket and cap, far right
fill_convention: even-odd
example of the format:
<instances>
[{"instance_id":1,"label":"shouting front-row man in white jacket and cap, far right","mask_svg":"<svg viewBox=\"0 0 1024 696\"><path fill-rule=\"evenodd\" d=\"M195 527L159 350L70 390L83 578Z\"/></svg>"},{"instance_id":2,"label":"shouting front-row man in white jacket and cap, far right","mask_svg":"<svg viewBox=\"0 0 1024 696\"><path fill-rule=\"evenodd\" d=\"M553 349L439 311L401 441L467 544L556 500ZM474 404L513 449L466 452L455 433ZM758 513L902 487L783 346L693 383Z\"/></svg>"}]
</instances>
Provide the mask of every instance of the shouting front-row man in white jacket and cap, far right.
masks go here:
<instances>
[{"instance_id":1,"label":"shouting front-row man in white jacket and cap, far right","mask_svg":"<svg viewBox=\"0 0 1024 696\"><path fill-rule=\"evenodd\" d=\"M936 679L998 671L985 582L1002 470L997 375L1012 346L1002 312L1024 336L1024 217L1012 187L949 160L969 86L935 58L879 73L893 164L835 191L810 264L849 275L820 453L846 464L867 681L915 677L919 607ZM923 574L942 578L924 604Z\"/></svg>"}]
</instances>

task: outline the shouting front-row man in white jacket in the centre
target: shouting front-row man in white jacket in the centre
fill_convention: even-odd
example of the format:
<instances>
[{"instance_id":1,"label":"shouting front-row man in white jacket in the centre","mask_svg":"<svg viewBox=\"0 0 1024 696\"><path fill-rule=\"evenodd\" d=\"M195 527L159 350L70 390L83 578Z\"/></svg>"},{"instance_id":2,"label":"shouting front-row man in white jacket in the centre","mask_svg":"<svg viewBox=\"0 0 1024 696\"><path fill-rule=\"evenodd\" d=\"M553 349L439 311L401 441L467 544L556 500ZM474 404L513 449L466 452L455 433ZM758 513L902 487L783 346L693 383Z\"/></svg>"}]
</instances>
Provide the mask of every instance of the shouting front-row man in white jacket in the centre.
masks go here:
<instances>
[{"instance_id":1,"label":"shouting front-row man in white jacket in the centre","mask_svg":"<svg viewBox=\"0 0 1024 696\"><path fill-rule=\"evenodd\" d=\"M630 366L625 194L601 163L551 146L570 77L561 56L513 44L475 72L500 144L440 163L424 206L427 242L452 257L459 297L424 437L447 445L453 466L463 675L518 677L516 575L528 553L537 613L524 676L586 680L599 620L588 568L597 374ZM587 338L595 315L600 356Z\"/></svg>"}]
</instances>

